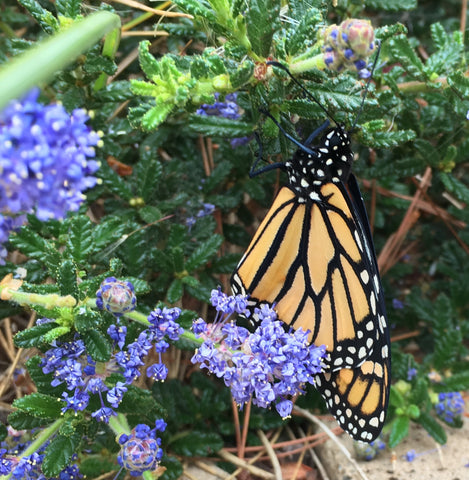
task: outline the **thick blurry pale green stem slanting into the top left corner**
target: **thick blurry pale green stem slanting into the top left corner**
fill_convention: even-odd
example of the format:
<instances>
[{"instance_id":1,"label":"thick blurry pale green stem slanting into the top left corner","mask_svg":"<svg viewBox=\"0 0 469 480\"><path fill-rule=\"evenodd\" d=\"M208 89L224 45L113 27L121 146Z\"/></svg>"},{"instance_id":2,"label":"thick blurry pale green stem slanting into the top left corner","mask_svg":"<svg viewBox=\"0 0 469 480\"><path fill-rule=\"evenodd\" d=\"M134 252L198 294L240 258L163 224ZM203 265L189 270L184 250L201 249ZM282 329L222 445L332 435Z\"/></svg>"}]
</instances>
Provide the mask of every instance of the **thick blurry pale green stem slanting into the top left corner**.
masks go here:
<instances>
[{"instance_id":1,"label":"thick blurry pale green stem slanting into the top left corner","mask_svg":"<svg viewBox=\"0 0 469 480\"><path fill-rule=\"evenodd\" d=\"M71 64L104 35L119 28L118 15L97 12L7 62L0 69L0 110L32 87L49 82L55 73Z\"/></svg>"}]
</instances>

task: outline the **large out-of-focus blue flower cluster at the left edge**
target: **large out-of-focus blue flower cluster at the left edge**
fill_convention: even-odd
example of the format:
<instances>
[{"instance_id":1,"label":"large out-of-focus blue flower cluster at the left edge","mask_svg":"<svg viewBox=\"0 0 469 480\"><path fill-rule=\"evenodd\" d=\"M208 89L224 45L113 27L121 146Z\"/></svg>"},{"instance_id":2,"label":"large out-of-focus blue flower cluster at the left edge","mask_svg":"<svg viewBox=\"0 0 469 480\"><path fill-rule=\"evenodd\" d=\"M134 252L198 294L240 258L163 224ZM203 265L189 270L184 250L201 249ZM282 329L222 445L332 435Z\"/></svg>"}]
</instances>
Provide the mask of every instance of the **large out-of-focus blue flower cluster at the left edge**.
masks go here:
<instances>
[{"instance_id":1,"label":"large out-of-focus blue flower cluster at the left edge","mask_svg":"<svg viewBox=\"0 0 469 480\"><path fill-rule=\"evenodd\" d=\"M78 210L96 185L99 163L90 160L101 140L85 110L38 103L39 90L0 113L0 244L34 213L61 219ZM6 251L2 249L4 257Z\"/></svg>"}]
</instances>

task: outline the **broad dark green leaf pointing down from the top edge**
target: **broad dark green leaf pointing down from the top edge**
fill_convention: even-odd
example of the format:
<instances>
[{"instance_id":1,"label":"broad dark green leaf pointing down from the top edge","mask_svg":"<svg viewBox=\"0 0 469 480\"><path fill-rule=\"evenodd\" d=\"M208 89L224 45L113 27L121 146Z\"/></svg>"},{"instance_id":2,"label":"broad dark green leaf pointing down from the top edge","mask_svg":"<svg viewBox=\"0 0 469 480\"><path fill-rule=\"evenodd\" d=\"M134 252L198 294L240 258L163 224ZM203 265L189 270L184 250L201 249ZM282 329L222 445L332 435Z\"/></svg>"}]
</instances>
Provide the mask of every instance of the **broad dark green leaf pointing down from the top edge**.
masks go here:
<instances>
[{"instance_id":1,"label":"broad dark green leaf pointing down from the top edge","mask_svg":"<svg viewBox=\"0 0 469 480\"><path fill-rule=\"evenodd\" d=\"M261 57L267 57L272 37L280 28L280 0L251 0L245 22L252 50Z\"/></svg>"}]
</instances>

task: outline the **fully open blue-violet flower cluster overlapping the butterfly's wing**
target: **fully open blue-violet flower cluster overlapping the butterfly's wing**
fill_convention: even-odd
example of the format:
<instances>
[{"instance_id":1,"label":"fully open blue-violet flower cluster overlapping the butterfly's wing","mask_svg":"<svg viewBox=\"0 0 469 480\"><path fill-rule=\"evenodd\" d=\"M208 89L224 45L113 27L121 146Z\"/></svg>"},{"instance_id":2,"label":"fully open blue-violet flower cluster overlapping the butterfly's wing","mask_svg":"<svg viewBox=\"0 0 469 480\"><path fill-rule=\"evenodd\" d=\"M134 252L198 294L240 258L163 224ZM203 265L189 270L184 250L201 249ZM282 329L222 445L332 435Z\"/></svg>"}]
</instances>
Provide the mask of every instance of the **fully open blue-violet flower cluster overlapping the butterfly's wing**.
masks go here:
<instances>
[{"instance_id":1,"label":"fully open blue-violet flower cluster overlapping the butterfly's wing","mask_svg":"<svg viewBox=\"0 0 469 480\"><path fill-rule=\"evenodd\" d=\"M201 318L193 323L194 333L204 343L192 363L223 378L238 405L251 399L262 408L275 403L281 417L288 417L293 408L290 398L304 393L304 384L314 384L314 376L322 371L326 347L310 345L309 332L302 329L286 332L267 305L254 311L258 324L254 333L237 326L229 321L233 314L250 316L247 297L242 295L213 290L211 302L217 310L214 323Z\"/></svg>"}]
</instances>

